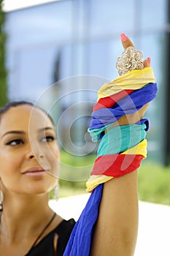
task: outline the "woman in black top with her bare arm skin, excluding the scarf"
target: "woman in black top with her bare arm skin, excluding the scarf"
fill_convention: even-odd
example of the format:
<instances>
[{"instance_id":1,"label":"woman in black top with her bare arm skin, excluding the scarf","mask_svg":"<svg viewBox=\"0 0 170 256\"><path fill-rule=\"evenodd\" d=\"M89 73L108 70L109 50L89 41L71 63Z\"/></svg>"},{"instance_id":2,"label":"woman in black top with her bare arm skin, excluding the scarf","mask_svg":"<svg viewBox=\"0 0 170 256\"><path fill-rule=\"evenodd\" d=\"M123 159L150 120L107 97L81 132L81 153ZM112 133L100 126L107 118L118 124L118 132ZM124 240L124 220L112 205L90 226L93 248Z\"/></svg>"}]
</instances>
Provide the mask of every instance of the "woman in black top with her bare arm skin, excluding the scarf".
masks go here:
<instances>
[{"instance_id":1,"label":"woman in black top with her bare arm skin, excluding the scarf","mask_svg":"<svg viewBox=\"0 0 170 256\"><path fill-rule=\"evenodd\" d=\"M125 34L121 40L123 48L134 46ZM149 66L148 58L144 67ZM135 124L146 109L144 105L120 117L112 127ZM30 103L12 103L0 112L0 137L0 190L4 195L0 255L63 255L75 222L62 219L48 206L48 194L58 182L53 121ZM133 171L104 183L90 255L134 255L137 227L137 172ZM75 256L67 251L65 255Z\"/></svg>"}]
</instances>

